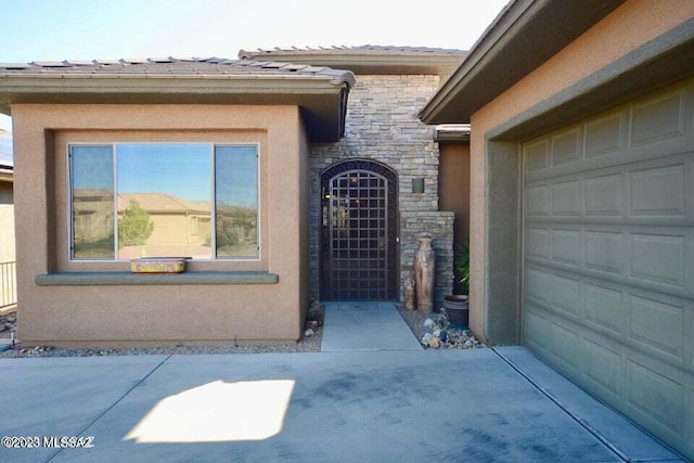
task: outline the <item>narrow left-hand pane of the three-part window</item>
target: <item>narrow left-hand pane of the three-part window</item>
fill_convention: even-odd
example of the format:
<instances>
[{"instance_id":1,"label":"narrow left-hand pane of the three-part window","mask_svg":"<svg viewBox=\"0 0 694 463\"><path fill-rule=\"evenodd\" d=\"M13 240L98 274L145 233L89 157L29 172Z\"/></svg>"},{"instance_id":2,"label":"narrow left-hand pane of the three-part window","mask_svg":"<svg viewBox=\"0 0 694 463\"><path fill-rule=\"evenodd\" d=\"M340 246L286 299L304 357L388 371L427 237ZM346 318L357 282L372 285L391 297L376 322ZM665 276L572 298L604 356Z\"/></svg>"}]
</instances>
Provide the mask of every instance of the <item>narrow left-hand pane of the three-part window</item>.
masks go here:
<instances>
[{"instance_id":1,"label":"narrow left-hand pane of the three-part window","mask_svg":"<svg viewBox=\"0 0 694 463\"><path fill-rule=\"evenodd\" d=\"M70 146L73 259L113 259L113 149Z\"/></svg>"}]
</instances>

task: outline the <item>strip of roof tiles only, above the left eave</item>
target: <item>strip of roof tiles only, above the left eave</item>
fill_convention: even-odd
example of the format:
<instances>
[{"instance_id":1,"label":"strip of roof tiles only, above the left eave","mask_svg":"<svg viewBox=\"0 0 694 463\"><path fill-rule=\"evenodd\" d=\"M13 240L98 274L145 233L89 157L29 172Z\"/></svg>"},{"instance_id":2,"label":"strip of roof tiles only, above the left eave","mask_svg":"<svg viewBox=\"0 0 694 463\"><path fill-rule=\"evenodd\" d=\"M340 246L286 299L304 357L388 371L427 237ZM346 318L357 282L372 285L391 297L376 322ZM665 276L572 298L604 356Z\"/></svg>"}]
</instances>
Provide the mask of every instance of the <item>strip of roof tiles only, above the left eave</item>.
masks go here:
<instances>
[{"instance_id":1,"label":"strip of roof tiles only, above the left eave","mask_svg":"<svg viewBox=\"0 0 694 463\"><path fill-rule=\"evenodd\" d=\"M318 78L354 83L347 70L272 61L221 57L146 60L36 61L0 63L0 77L117 77L117 78Z\"/></svg>"}]
</instances>

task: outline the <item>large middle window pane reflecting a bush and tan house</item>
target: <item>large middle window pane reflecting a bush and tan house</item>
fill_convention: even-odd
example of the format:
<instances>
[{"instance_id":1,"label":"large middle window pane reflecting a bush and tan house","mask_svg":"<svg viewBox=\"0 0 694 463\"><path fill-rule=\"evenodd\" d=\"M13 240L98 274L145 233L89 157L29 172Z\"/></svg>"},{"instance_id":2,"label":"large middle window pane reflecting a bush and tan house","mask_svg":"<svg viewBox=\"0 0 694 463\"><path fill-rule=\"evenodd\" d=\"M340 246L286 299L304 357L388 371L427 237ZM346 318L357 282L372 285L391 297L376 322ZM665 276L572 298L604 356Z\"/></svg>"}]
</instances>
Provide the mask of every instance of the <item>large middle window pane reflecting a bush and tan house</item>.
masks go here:
<instances>
[{"instance_id":1,"label":"large middle window pane reflecting a bush and tan house","mask_svg":"<svg viewBox=\"0 0 694 463\"><path fill-rule=\"evenodd\" d=\"M210 259L210 145L119 143L118 258Z\"/></svg>"}]
</instances>

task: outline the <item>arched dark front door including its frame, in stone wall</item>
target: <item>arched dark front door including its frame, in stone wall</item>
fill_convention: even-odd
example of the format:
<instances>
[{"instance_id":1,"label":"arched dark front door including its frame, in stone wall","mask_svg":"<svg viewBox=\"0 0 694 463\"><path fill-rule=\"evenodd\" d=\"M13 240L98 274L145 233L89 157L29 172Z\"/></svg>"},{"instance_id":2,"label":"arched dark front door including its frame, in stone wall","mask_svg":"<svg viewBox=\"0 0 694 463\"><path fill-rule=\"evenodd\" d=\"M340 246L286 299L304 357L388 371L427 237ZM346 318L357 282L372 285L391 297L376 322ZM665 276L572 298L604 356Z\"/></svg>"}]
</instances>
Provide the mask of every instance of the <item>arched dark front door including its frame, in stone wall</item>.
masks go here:
<instances>
[{"instance_id":1,"label":"arched dark front door including its frame, in stone wall","mask_svg":"<svg viewBox=\"0 0 694 463\"><path fill-rule=\"evenodd\" d=\"M347 160L323 172L321 193L321 298L397 299L397 173Z\"/></svg>"}]
</instances>

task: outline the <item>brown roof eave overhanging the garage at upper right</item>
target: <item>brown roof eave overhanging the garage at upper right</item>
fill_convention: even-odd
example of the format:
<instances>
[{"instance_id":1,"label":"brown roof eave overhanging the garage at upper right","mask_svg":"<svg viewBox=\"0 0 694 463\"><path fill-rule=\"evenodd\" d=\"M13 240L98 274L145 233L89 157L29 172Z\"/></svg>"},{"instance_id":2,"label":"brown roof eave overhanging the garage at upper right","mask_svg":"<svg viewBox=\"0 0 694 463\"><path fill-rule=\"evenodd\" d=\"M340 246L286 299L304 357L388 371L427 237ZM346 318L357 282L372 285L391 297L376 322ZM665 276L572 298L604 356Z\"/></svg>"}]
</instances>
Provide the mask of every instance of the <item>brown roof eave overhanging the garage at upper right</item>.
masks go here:
<instances>
[{"instance_id":1,"label":"brown roof eave overhanging the garage at upper right","mask_svg":"<svg viewBox=\"0 0 694 463\"><path fill-rule=\"evenodd\" d=\"M472 115L574 41L625 0L516 0L420 112L425 124ZM555 27L555 25L562 27Z\"/></svg>"}]
</instances>

